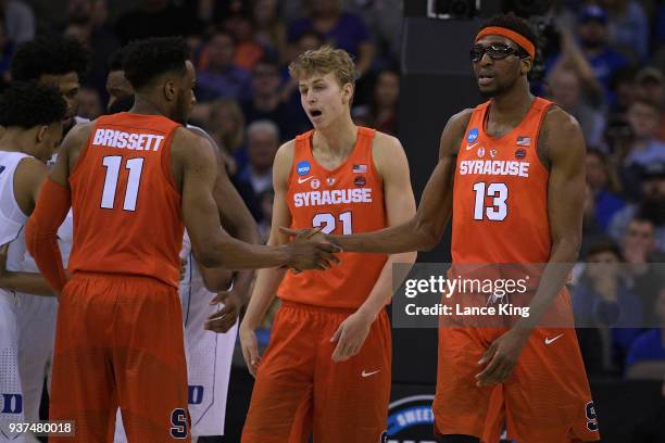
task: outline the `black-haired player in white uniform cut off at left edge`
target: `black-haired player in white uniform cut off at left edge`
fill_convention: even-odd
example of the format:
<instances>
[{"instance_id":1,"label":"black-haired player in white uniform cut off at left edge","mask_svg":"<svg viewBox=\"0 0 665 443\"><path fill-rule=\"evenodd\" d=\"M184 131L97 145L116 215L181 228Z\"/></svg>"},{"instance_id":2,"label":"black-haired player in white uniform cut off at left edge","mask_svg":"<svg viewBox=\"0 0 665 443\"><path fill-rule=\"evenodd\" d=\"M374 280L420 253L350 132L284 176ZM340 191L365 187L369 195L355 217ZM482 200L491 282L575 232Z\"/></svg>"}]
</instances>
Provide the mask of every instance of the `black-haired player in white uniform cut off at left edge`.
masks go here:
<instances>
[{"instance_id":1,"label":"black-haired player in white uniform cut off at left edge","mask_svg":"<svg viewBox=\"0 0 665 443\"><path fill-rule=\"evenodd\" d=\"M35 207L46 162L62 138L66 104L57 89L14 83L0 96L0 245L14 241ZM16 296L0 288L0 442L21 441L10 422L22 422Z\"/></svg>"}]
</instances>

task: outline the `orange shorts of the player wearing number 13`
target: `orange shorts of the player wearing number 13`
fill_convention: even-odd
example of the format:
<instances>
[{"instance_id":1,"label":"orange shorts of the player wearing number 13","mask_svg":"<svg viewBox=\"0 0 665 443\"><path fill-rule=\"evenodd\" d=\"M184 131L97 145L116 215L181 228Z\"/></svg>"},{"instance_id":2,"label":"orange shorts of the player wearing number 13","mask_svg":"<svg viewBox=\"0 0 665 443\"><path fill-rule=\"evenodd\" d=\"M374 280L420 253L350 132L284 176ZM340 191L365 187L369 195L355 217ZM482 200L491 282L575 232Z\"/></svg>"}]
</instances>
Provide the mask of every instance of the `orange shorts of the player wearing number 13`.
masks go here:
<instances>
[{"instance_id":1,"label":"orange shorts of the player wearing number 13","mask_svg":"<svg viewBox=\"0 0 665 443\"><path fill-rule=\"evenodd\" d=\"M567 291L555 301L569 314ZM567 306L565 305L567 303ZM563 312L562 311L562 312ZM504 427L517 442L600 439L585 365L573 328L535 329L513 374L500 385L476 387L478 360L505 328L440 328L437 434L475 435L497 443Z\"/></svg>"}]
</instances>

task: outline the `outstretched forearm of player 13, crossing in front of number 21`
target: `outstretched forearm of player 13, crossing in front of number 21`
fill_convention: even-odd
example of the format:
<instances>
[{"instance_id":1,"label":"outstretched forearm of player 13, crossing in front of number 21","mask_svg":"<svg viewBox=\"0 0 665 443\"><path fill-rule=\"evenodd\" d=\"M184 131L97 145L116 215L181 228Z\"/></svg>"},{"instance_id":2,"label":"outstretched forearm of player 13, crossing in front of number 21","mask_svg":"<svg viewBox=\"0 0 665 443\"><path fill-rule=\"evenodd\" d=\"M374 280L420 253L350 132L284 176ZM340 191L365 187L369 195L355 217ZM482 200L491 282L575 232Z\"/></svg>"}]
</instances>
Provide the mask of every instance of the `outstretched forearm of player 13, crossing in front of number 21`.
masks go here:
<instances>
[{"instance_id":1,"label":"outstretched forearm of player 13, crossing in front of number 21","mask_svg":"<svg viewBox=\"0 0 665 443\"><path fill-rule=\"evenodd\" d=\"M438 242L438 238L435 238L436 236L432 236L428 229L422 229L418 226L417 218L375 232L326 237L339 245L342 251L381 254L428 250Z\"/></svg>"}]
</instances>

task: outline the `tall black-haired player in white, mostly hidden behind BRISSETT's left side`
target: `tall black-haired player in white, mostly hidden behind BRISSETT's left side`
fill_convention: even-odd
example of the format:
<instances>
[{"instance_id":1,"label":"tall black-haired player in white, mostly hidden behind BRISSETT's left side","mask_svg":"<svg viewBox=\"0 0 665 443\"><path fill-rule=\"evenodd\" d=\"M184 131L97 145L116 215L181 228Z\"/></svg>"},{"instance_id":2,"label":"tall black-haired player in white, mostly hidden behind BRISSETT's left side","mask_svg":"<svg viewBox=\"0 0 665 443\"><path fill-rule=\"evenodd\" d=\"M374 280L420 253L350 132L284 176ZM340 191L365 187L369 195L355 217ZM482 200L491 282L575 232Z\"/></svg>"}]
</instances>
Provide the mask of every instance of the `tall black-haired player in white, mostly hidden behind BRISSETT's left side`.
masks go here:
<instances>
[{"instance_id":1,"label":"tall black-haired player in white, mostly hidden behind BRISSETT's left side","mask_svg":"<svg viewBox=\"0 0 665 443\"><path fill-rule=\"evenodd\" d=\"M63 121L64 131L76 123L87 119L76 116L80 79L85 75L90 52L78 40L61 36L39 37L21 45L11 62L12 78L18 81L37 81L52 85L67 103ZM49 162L49 164L52 164ZM68 213L58 230L58 243L67 263L72 246L72 214ZM18 322L18 368L23 387L25 419L39 419L39 404L45 378L50 385L50 368L55 337L58 301L43 278L38 276L35 262L25 253L24 232L12 242L9 251L13 290L18 300L16 318ZM20 273L20 274L17 274ZM38 318L39 321L35 321ZM37 440L32 438L33 442Z\"/></svg>"}]
</instances>

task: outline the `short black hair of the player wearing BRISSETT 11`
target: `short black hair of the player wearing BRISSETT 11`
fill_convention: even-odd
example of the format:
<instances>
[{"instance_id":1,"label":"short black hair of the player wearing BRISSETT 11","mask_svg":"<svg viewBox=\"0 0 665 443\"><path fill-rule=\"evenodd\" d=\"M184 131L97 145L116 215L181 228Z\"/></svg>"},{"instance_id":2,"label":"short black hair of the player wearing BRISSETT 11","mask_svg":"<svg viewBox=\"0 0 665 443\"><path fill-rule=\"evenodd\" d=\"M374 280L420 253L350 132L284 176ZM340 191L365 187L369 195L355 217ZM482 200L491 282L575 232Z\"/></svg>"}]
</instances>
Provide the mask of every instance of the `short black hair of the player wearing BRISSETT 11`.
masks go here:
<instances>
[{"instance_id":1,"label":"short black hair of the player wearing BRISSETT 11","mask_svg":"<svg viewBox=\"0 0 665 443\"><path fill-rule=\"evenodd\" d=\"M185 73L189 47L181 37L152 37L130 42L124 50L125 77L139 90L170 71Z\"/></svg>"}]
</instances>

